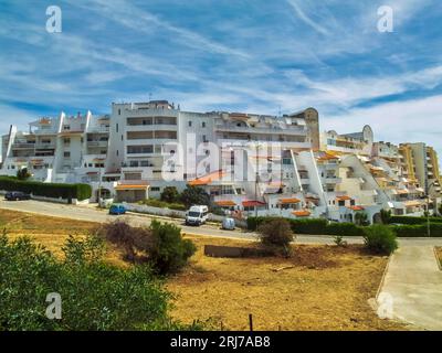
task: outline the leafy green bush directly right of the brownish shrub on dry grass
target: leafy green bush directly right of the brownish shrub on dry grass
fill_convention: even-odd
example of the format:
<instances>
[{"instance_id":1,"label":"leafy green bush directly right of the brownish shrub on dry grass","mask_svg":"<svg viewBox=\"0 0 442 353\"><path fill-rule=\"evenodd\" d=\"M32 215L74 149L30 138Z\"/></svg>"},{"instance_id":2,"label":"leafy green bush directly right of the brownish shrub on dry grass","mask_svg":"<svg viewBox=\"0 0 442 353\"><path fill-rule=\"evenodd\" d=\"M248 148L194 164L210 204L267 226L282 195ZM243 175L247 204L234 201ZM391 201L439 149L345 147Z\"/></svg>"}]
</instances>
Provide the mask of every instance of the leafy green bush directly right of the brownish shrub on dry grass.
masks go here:
<instances>
[{"instance_id":1,"label":"leafy green bush directly right of the brownish shrub on dry grass","mask_svg":"<svg viewBox=\"0 0 442 353\"><path fill-rule=\"evenodd\" d=\"M148 258L158 274L177 272L197 250L191 240L182 238L181 229L175 224L154 220L149 229L151 242Z\"/></svg>"}]
</instances>

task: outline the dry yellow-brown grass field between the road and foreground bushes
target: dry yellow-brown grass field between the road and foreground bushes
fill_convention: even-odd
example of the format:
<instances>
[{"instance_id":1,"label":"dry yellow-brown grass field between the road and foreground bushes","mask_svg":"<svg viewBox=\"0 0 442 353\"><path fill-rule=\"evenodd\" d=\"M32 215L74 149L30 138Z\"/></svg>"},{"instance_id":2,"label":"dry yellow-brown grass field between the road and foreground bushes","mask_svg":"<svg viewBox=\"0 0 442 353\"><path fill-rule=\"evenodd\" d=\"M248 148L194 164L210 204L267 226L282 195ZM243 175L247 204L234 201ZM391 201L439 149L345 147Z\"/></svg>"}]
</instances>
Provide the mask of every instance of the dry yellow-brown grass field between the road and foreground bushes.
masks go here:
<instances>
[{"instance_id":1,"label":"dry yellow-brown grass field between the road and foreground bushes","mask_svg":"<svg viewBox=\"0 0 442 353\"><path fill-rule=\"evenodd\" d=\"M0 226L11 237L32 236L55 255L67 235L84 236L97 224L0 210ZM176 295L172 317L192 322L211 318L214 328L248 330L404 330L380 320L367 300L376 296L386 257L361 246L294 246L294 257L229 259L203 256L204 244L250 245L250 242L189 237L198 246L190 266L168 279ZM110 263L128 266L109 246ZM274 271L285 266L291 268Z\"/></svg>"}]
</instances>

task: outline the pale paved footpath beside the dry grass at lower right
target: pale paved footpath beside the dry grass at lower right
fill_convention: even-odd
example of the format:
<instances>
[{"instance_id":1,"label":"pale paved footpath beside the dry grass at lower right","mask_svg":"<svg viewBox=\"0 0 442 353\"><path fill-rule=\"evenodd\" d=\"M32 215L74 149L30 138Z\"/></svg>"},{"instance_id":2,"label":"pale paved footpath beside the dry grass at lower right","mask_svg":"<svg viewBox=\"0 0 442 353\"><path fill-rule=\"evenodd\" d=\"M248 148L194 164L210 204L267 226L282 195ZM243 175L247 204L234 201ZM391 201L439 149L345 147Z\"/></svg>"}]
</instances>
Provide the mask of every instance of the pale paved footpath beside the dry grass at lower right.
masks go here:
<instances>
[{"instance_id":1,"label":"pale paved footpath beside the dry grass at lower right","mask_svg":"<svg viewBox=\"0 0 442 353\"><path fill-rule=\"evenodd\" d=\"M391 257L381 292L392 313L424 330L442 330L442 270L432 245L400 247Z\"/></svg>"}]
</instances>

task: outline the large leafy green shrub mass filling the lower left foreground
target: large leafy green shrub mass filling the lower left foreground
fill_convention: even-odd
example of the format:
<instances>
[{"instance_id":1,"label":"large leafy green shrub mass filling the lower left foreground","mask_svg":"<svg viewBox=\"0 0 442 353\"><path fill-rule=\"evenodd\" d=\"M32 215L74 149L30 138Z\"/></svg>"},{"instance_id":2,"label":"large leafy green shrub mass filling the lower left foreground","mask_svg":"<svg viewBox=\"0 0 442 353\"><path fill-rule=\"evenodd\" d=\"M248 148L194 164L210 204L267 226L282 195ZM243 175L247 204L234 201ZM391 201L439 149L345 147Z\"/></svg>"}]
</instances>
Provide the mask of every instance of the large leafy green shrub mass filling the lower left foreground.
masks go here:
<instances>
[{"instance_id":1,"label":"large leafy green shrub mass filling the lower left foreground","mask_svg":"<svg viewBox=\"0 0 442 353\"><path fill-rule=\"evenodd\" d=\"M169 318L170 295L149 267L112 266L95 242L70 238L61 261L29 238L0 236L0 331L183 328ZM45 317L51 292L61 295L61 320Z\"/></svg>"}]
</instances>

